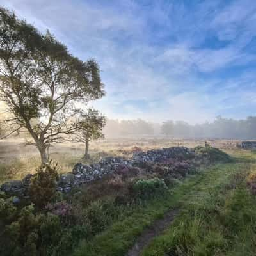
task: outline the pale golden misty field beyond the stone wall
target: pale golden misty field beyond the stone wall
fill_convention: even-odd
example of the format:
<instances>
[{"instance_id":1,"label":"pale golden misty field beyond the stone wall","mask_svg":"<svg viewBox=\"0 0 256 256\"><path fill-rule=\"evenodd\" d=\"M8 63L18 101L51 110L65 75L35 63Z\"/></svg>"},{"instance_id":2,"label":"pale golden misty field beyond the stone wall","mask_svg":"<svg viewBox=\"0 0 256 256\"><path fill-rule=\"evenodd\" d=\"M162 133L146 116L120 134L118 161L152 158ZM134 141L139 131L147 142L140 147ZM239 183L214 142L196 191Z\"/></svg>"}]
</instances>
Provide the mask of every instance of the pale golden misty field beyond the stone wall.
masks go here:
<instances>
[{"instance_id":1,"label":"pale golden misty field beyond the stone wall","mask_svg":"<svg viewBox=\"0 0 256 256\"><path fill-rule=\"evenodd\" d=\"M208 140L212 147L230 152L236 150L238 140ZM116 138L92 141L90 159L84 160L82 143L55 143L50 148L50 159L58 163L60 173L71 172L76 163L97 163L103 157L120 156L130 158L134 150L150 150L185 146L193 148L204 145L205 140L182 140L169 138ZM28 173L35 173L40 166L40 155L34 146L26 145L26 140L12 138L0 141L0 182L22 179Z\"/></svg>"}]
</instances>

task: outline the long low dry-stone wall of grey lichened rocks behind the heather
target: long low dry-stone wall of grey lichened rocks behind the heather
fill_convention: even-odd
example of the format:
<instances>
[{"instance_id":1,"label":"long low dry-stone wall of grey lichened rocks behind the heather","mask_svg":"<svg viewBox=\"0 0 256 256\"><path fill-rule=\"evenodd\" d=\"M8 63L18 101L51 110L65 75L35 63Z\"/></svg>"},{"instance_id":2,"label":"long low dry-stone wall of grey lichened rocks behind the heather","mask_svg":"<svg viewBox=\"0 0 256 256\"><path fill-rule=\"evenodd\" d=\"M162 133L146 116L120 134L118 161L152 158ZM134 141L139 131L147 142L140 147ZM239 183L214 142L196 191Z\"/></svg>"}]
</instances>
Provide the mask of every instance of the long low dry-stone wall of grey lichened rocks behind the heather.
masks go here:
<instances>
[{"instance_id":1,"label":"long low dry-stone wall of grey lichened rocks behind the heather","mask_svg":"<svg viewBox=\"0 0 256 256\"><path fill-rule=\"evenodd\" d=\"M68 193L72 188L93 180L102 179L104 175L114 175L115 173L127 173L134 170L142 163L159 163L166 159L188 159L195 157L195 152L186 147L171 147L147 152L134 152L132 159L125 160L121 157L106 157L96 164L75 164L72 172L60 175L57 190ZM132 169L133 168L133 169ZM23 180L11 180L4 183L0 191L10 196L28 196L28 186L33 175L28 174Z\"/></svg>"}]
</instances>

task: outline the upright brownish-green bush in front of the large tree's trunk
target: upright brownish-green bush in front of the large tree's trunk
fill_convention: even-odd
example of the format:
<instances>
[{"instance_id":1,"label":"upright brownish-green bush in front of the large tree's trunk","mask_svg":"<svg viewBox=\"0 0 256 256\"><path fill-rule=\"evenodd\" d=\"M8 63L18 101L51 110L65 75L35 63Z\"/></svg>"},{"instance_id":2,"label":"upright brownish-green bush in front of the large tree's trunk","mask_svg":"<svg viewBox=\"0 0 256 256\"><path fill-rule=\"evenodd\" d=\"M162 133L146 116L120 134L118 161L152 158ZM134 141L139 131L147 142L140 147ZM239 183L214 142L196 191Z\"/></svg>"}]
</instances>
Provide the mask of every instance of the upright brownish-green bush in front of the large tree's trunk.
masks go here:
<instances>
[{"instance_id":1,"label":"upright brownish-green bush in front of the large tree's trunk","mask_svg":"<svg viewBox=\"0 0 256 256\"><path fill-rule=\"evenodd\" d=\"M56 166L44 164L37 170L35 177L31 178L29 195L36 207L44 207L56 193L58 172Z\"/></svg>"}]
</instances>

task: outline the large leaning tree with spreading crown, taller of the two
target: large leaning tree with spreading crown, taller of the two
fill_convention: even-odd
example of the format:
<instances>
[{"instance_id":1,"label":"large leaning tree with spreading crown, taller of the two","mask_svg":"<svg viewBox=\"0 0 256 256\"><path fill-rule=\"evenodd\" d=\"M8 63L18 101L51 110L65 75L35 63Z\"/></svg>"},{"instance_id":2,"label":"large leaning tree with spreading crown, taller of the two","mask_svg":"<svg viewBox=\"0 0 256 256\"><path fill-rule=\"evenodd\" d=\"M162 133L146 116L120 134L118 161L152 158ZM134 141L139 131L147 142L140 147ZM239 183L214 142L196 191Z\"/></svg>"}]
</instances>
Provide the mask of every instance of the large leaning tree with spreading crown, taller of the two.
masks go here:
<instances>
[{"instance_id":1,"label":"large leaning tree with spreading crown, taller of the two","mask_svg":"<svg viewBox=\"0 0 256 256\"><path fill-rule=\"evenodd\" d=\"M8 120L15 127L11 133L27 129L42 164L48 162L52 142L76 131L78 123L68 120L76 120L77 102L103 95L94 60L74 58L49 32L42 35L0 8L0 97L14 116Z\"/></svg>"}]
</instances>

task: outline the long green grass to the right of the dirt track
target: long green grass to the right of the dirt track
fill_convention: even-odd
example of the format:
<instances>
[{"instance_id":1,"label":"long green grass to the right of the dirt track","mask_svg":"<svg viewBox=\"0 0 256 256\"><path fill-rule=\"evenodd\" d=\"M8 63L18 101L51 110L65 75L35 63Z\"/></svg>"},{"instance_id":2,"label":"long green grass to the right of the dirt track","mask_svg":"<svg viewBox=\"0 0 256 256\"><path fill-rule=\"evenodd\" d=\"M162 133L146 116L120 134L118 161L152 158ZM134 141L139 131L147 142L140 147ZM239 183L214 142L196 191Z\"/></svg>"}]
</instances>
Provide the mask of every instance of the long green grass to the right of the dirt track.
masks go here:
<instances>
[{"instance_id":1,"label":"long green grass to the right of the dirt track","mask_svg":"<svg viewBox=\"0 0 256 256\"><path fill-rule=\"evenodd\" d=\"M255 255L256 198L244 181L254 166L219 168L221 175L211 172L198 184L198 192L184 202L183 213L143 256Z\"/></svg>"}]
</instances>

